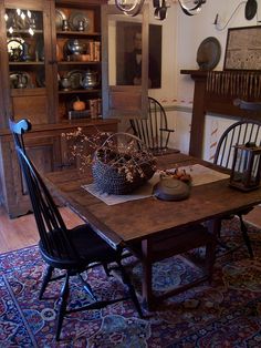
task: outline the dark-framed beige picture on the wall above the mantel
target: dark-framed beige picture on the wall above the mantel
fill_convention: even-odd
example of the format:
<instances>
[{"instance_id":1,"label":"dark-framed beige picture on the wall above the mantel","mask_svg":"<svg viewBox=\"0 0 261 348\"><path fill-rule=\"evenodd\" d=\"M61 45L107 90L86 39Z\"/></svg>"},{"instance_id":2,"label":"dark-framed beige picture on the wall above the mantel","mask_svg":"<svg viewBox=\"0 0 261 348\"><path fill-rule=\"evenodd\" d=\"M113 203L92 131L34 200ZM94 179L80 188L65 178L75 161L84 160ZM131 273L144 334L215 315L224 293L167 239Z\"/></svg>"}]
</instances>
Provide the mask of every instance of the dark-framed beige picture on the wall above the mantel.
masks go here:
<instances>
[{"instance_id":1,"label":"dark-framed beige picture on the wall above the mantel","mask_svg":"<svg viewBox=\"0 0 261 348\"><path fill-rule=\"evenodd\" d=\"M228 30L223 70L261 70L261 25Z\"/></svg>"}]
</instances>

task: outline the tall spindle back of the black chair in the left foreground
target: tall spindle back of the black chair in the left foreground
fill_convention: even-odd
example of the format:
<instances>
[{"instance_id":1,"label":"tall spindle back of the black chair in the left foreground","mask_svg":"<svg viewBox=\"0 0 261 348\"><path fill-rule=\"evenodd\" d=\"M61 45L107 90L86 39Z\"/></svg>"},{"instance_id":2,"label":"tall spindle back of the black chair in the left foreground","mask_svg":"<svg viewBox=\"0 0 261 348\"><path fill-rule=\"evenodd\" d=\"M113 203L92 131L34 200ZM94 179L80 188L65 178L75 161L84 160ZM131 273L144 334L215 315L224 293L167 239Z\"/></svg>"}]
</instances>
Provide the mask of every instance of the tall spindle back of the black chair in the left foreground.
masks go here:
<instances>
[{"instance_id":1,"label":"tall spindle back of the black chair in the left foreground","mask_svg":"<svg viewBox=\"0 0 261 348\"><path fill-rule=\"evenodd\" d=\"M28 120L21 120L18 123L9 121L9 126L13 134L19 164L28 186L40 235L41 252L44 253L45 257L63 259L67 263L70 260L75 262L79 256L67 237L63 218L25 152L23 134L31 130L31 124Z\"/></svg>"}]
</instances>

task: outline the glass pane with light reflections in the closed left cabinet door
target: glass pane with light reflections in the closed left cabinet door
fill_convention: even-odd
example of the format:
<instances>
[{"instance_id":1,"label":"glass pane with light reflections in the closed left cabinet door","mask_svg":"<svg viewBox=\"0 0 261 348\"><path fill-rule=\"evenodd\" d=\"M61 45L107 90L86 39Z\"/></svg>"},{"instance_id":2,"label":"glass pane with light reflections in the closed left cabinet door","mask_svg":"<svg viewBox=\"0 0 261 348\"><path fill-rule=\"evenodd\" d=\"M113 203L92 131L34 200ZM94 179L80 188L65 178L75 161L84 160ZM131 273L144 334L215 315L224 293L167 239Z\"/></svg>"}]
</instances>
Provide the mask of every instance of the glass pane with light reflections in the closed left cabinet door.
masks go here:
<instances>
[{"instance_id":1,"label":"glass pane with light reflections in the closed left cabinet door","mask_svg":"<svg viewBox=\"0 0 261 348\"><path fill-rule=\"evenodd\" d=\"M43 16L28 9L7 9L6 27L11 89L45 85Z\"/></svg>"}]
</instances>

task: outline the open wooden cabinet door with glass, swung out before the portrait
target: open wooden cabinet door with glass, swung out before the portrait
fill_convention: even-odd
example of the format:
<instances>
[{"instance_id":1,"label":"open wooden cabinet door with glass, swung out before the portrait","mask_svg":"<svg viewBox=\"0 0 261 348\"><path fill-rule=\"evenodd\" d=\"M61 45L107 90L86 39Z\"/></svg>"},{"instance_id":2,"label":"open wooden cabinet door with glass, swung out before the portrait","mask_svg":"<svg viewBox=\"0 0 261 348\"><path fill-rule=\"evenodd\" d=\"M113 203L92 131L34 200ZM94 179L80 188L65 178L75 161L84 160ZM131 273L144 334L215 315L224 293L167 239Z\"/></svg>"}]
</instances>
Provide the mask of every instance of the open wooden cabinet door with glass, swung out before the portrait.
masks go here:
<instances>
[{"instance_id":1,"label":"open wooden cabinet door with glass, swung out before the portrait","mask_svg":"<svg viewBox=\"0 0 261 348\"><path fill-rule=\"evenodd\" d=\"M104 6L103 116L147 117L148 6L135 18Z\"/></svg>"}]
</instances>

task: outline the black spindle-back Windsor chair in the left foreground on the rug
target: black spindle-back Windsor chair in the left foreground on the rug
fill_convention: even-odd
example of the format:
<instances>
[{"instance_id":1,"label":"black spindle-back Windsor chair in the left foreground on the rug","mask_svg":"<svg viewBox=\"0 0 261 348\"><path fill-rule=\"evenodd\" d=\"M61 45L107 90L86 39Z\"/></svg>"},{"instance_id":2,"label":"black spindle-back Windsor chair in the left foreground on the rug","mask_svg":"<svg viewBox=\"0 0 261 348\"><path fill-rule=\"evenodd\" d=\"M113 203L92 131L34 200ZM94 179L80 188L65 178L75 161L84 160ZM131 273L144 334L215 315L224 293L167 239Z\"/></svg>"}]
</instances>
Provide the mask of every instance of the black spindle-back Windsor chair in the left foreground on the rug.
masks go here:
<instances>
[{"instance_id":1,"label":"black spindle-back Windsor chair in the left foreground on the rug","mask_svg":"<svg viewBox=\"0 0 261 348\"><path fill-rule=\"evenodd\" d=\"M72 229L66 228L50 192L48 191L33 163L27 156L23 134L31 130L30 122L28 120L21 120L18 123L9 121L9 125L13 134L15 151L27 182L39 229L39 249L43 260L48 264L39 298L42 298L50 282L62 277L65 278L62 285L60 306L58 309L56 340L60 339L64 316L73 311L100 309L119 300L132 298L139 316L143 317L142 308L136 297L134 287L130 283L128 274L125 272L121 263L122 247L114 249L87 224L76 226ZM98 300L93 293L91 285L82 276L82 273L84 273L87 268L93 267L93 264L98 264L103 265L106 274L109 275L111 269L108 268L108 264L111 263L117 264L123 283L128 287L129 296ZM65 274L63 276L60 275L52 277L55 268L65 270ZM69 308L70 278L72 276L79 277L87 295L91 297L92 301L88 305L77 308Z\"/></svg>"}]
</instances>

